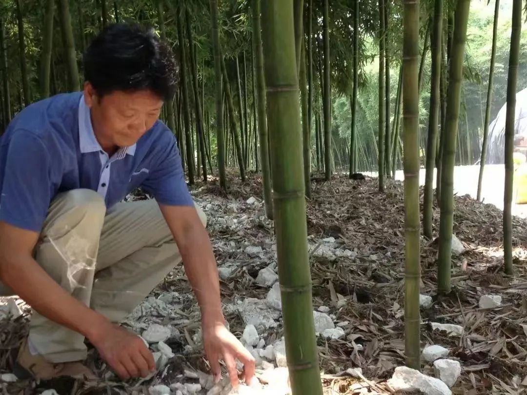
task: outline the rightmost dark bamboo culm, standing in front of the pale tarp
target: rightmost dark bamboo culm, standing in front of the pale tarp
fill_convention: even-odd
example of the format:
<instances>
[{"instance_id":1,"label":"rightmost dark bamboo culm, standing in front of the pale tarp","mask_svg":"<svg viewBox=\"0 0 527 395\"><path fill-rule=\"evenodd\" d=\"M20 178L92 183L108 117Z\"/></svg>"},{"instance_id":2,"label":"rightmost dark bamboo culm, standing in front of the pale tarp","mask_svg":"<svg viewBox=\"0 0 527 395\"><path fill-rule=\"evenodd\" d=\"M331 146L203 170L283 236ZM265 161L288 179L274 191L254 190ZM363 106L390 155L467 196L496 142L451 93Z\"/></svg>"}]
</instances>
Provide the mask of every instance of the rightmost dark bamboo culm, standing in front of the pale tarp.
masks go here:
<instances>
[{"instance_id":1,"label":"rightmost dark bamboo culm, standing in front of the pale tarp","mask_svg":"<svg viewBox=\"0 0 527 395\"><path fill-rule=\"evenodd\" d=\"M514 118L516 110L516 81L520 58L522 29L522 0L512 2L511 49L507 78L507 112L505 115L505 193L503 196L503 253L505 273L513 274L512 266L512 190L514 179Z\"/></svg>"}]
</instances>

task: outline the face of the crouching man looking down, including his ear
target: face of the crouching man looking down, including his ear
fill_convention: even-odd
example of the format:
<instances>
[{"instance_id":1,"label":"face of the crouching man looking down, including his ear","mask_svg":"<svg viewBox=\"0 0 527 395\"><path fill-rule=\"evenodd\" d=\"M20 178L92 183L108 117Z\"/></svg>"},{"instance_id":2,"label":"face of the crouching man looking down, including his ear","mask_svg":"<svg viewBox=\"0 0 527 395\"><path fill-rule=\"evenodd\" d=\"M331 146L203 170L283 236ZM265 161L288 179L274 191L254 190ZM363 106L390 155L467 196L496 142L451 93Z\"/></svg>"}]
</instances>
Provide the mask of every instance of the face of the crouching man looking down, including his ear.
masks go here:
<instances>
[{"instance_id":1,"label":"face of the crouching man looking down, including his ear","mask_svg":"<svg viewBox=\"0 0 527 395\"><path fill-rule=\"evenodd\" d=\"M135 144L158 120L163 101L149 90L115 91L97 96L93 86L84 86L86 105L90 107L97 139L105 145Z\"/></svg>"}]
</instances>

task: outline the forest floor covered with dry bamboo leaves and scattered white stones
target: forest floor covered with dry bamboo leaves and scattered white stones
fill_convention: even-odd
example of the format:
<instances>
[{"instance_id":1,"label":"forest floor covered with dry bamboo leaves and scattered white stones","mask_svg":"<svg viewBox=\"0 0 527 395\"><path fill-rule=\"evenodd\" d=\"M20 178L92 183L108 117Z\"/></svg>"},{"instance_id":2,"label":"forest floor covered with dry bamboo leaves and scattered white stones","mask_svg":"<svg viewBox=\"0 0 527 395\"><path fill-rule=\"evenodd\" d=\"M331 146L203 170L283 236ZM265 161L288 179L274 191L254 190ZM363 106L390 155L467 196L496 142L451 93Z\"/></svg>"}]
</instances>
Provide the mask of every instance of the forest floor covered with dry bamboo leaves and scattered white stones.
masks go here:
<instances>
[{"instance_id":1,"label":"forest floor covered with dry bamboo leaves and scattered white stones","mask_svg":"<svg viewBox=\"0 0 527 395\"><path fill-rule=\"evenodd\" d=\"M273 344L283 334L280 311L266 301L270 287L256 282L261 269L276 270L273 223L264 213L259 177L251 175L246 183L232 179L229 194L221 192L216 181L194 186L192 194L208 215L230 330L240 338L257 310L259 337ZM313 197L306 202L314 309L328 308L331 321L345 332L338 340L318 337L325 392L390 393L386 380L395 367L404 365L402 183L388 180L381 194L375 178L352 181L337 176L331 182L316 178ZM438 210L434 220L437 234ZM437 242L422 239L421 293L433 298L431 307L421 308L422 347L442 345L449 350L449 358L461 362L462 375L453 393L515 394L527 388L522 384L527 384L526 229L526 220L513 217L515 275L506 276L502 212L494 205L457 196L454 233L466 251L453 256L452 292L441 298L436 296ZM484 294L501 295L502 304L480 309L478 302ZM18 305L22 315L0 321L2 372L9 372L9 350L17 347L27 328L29 311L23 302ZM159 383L198 382L189 377L193 376L190 371L207 372L208 368L201 354L199 310L182 267L174 269L124 324L143 333L152 323L168 328L165 343L175 357L147 381L119 382L92 351L90 364L105 377L100 382L17 381L4 383L4 393L31 394L54 388L61 395L148 394L148 388ZM434 331L431 323L461 325L463 334ZM156 345L151 347L157 351ZM361 368L362 377L351 377L349 368ZM430 363L423 362L422 371L434 374ZM206 379L204 376L202 383Z\"/></svg>"}]
</instances>

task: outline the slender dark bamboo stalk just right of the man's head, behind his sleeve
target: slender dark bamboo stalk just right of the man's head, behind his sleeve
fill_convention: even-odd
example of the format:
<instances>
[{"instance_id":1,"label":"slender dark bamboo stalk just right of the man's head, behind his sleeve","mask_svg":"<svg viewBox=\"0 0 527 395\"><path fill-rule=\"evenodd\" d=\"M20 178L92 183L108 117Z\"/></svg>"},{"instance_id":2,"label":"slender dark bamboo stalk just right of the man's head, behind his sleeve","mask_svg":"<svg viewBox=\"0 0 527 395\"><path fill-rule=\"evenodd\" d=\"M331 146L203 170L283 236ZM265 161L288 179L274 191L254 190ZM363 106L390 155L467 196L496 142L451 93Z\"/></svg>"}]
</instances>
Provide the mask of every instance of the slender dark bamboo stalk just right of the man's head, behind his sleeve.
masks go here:
<instances>
[{"instance_id":1,"label":"slender dark bamboo stalk just right of the man's head, behind his sleeve","mask_svg":"<svg viewBox=\"0 0 527 395\"><path fill-rule=\"evenodd\" d=\"M189 94L187 88L187 51L185 48L185 41L183 38L183 19L181 17L181 9L177 9L178 14L178 41L179 41L179 58L181 67L180 84L183 102L183 125L185 133L185 143L187 151L187 175L189 177L189 184L194 184L194 150L192 148L192 130L190 127L190 109L189 109Z\"/></svg>"}]
</instances>

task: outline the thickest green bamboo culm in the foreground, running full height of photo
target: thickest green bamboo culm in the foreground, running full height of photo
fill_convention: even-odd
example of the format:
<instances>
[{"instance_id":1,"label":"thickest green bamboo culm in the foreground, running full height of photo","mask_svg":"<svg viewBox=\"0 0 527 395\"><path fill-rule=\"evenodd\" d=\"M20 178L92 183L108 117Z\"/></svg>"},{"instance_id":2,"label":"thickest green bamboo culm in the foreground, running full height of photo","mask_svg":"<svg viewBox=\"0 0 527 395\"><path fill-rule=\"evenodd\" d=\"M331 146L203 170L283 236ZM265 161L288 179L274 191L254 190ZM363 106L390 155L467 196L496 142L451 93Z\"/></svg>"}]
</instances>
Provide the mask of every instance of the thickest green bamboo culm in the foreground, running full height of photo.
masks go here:
<instances>
[{"instance_id":1,"label":"thickest green bamboo culm in the foreground, running full height of photo","mask_svg":"<svg viewBox=\"0 0 527 395\"><path fill-rule=\"evenodd\" d=\"M322 395L307 248L293 0L265 0L262 27L278 275L291 390L293 395Z\"/></svg>"}]
</instances>

